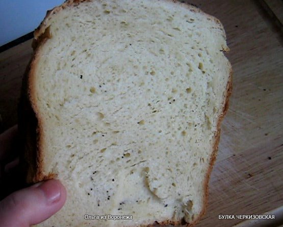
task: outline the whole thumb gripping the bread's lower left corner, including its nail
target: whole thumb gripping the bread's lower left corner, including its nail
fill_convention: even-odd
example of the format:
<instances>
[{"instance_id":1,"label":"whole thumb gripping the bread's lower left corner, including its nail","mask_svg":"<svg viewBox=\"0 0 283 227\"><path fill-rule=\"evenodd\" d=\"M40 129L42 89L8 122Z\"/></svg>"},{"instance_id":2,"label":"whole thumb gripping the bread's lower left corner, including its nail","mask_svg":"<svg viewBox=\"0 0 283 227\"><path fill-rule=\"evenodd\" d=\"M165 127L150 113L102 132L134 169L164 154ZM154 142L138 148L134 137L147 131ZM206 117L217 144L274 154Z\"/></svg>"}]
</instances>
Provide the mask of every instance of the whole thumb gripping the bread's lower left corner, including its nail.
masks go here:
<instances>
[{"instance_id":1,"label":"whole thumb gripping the bread's lower left corner, including its nail","mask_svg":"<svg viewBox=\"0 0 283 227\"><path fill-rule=\"evenodd\" d=\"M55 214L65 201L66 189L60 181L37 183L0 201L0 223L6 227L29 227Z\"/></svg>"}]
</instances>

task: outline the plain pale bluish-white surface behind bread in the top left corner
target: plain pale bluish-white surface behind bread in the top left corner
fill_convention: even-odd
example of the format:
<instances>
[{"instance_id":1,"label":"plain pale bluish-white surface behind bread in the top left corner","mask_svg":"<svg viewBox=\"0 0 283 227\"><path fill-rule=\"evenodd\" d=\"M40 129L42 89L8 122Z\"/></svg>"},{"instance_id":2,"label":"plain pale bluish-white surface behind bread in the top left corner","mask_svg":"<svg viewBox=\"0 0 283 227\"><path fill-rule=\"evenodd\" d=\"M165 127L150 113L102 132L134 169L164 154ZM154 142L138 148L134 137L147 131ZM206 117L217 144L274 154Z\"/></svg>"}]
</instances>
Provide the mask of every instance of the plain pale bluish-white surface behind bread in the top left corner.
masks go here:
<instances>
[{"instance_id":1,"label":"plain pale bluish-white surface behind bread in the top left corner","mask_svg":"<svg viewBox=\"0 0 283 227\"><path fill-rule=\"evenodd\" d=\"M64 0L0 0L0 46L34 31Z\"/></svg>"}]
</instances>

